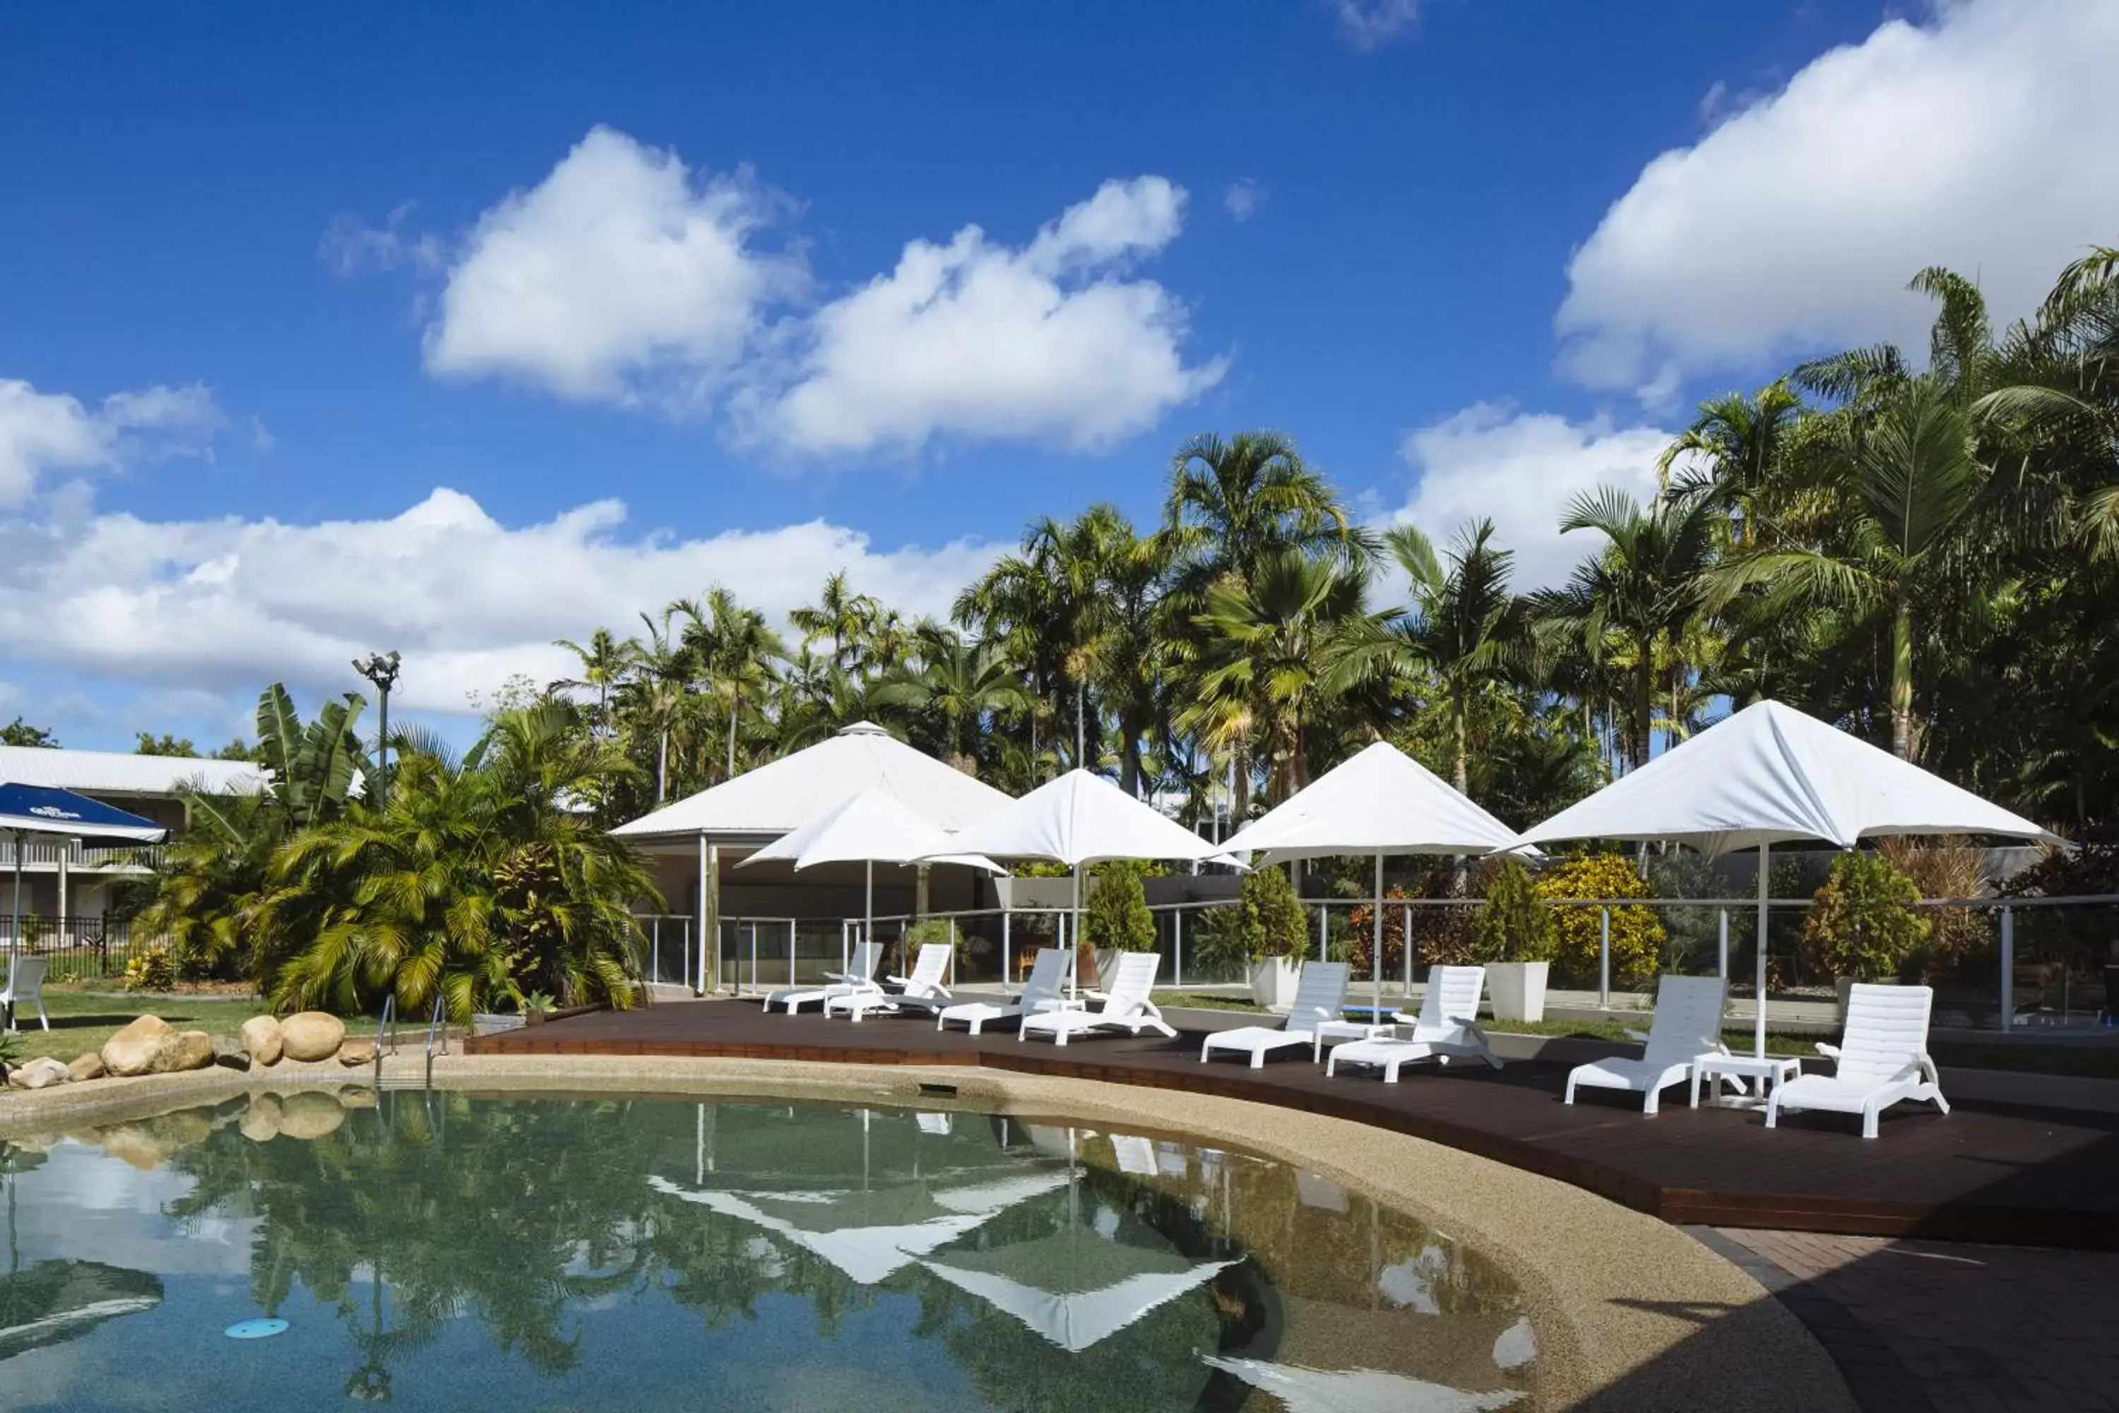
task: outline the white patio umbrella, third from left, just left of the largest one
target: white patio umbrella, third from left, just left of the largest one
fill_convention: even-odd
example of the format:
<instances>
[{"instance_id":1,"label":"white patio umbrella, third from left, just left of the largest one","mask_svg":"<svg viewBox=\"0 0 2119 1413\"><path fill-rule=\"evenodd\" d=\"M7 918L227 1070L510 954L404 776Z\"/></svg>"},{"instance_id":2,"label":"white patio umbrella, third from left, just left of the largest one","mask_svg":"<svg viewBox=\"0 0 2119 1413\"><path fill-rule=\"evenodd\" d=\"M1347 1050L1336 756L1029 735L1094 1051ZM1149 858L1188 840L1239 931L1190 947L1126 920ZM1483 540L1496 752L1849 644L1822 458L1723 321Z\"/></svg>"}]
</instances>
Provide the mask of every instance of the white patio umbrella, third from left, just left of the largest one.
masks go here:
<instances>
[{"instance_id":1,"label":"white patio umbrella, third from left, just left of the largest one","mask_svg":"<svg viewBox=\"0 0 2119 1413\"><path fill-rule=\"evenodd\" d=\"M1339 854L1375 856L1369 972L1371 1002L1375 1013L1382 1013L1384 856L1492 854L1515 845L1513 828L1390 741L1377 741L1267 809L1221 847L1265 854L1271 862Z\"/></svg>"}]
</instances>

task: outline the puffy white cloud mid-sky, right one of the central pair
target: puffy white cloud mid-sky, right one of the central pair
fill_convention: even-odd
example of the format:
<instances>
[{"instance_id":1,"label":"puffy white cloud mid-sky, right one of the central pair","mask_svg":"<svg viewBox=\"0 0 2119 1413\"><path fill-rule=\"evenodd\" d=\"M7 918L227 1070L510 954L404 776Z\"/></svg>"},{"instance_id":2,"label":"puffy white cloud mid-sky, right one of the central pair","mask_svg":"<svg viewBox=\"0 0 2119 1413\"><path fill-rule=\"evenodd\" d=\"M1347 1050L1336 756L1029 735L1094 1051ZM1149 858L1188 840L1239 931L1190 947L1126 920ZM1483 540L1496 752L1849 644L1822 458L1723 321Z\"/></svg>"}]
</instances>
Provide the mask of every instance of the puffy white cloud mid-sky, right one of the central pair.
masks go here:
<instances>
[{"instance_id":1,"label":"puffy white cloud mid-sky, right one of the central pair","mask_svg":"<svg viewBox=\"0 0 2119 1413\"><path fill-rule=\"evenodd\" d=\"M1187 364L1185 307L1129 278L1182 227L1159 176L1104 182L1015 250L964 227L909 242L888 275L807 322L786 371L737 403L746 441L805 455L918 451L932 439L1096 449L1216 383Z\"/></svg>"}]
</instances>

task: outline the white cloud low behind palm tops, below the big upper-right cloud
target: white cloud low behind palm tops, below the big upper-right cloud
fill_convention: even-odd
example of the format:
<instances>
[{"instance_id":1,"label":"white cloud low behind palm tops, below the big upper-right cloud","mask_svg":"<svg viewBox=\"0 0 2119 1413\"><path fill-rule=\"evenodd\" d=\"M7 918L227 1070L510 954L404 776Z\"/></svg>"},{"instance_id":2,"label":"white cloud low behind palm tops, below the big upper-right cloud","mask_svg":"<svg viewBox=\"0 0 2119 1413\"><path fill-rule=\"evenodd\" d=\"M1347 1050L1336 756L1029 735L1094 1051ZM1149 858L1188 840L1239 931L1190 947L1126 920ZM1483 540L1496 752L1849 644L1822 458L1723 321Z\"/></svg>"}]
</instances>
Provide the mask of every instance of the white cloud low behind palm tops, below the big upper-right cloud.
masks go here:
<instances>
[{"instance_id":1,"label":"white cloud low behind palm tops, below the big upper-right cloud","mask_svg":"<svg viewBox=\"0 0 2119 1413\"><path fill-rule=\"evenodd\" d=\"M1636 500L1657 491L1655 458L1672 432L1613 426L1608 417L1568 422L1475 403L1407 434L1399 453L1418 475L1396 521L1443 542L1468 519L1492 519L1502 549L1515 551L1515 587L1566 580L1598 544L1589 534L1560 534L1560 517L1583 491L1617 485Z\"/></svg>"}]
</instances>

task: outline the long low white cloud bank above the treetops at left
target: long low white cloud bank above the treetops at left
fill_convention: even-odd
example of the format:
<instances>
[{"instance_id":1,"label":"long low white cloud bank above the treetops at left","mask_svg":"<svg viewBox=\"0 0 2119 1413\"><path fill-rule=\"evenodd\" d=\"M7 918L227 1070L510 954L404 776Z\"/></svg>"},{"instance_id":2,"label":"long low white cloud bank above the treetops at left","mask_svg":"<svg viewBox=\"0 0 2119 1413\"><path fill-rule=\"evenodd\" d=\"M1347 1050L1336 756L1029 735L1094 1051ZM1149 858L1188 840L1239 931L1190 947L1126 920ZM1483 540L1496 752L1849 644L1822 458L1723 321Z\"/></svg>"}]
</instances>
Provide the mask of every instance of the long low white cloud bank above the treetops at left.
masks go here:
<instances>
[{"instance_id":1,"label":"long low white cloud bank above the treetops at left","mask_svg":"<svg viewBox=\"0 0 2119 1413\"><path fill-rule=\"evenodd\" d=\"M843 568L886 604L941 614L998 553L968 540L879 551L824 521L695 540L623 538L623 521L604 500L511 527L451 489L390 519L311 525L0 521L0 657L248 701L271 680L358 686L352 657L398 648L394 701L462 712L466 693L513 674L566 676L553 638L634 631L638 612L716 583L782 616Z\"/></svg>"}]
</instances>

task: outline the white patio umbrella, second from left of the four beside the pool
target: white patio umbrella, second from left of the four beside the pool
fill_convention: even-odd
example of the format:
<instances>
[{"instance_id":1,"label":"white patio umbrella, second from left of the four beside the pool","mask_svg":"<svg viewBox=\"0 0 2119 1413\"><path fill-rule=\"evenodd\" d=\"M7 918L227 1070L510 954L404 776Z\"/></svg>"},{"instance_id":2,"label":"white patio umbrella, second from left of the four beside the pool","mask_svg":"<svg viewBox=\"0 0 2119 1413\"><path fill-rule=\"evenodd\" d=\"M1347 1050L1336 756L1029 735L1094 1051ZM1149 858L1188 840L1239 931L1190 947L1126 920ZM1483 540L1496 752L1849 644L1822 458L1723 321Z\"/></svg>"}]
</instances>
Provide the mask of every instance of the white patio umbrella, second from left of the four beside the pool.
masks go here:
<instances>
[{"instance_id":1,"label":"white patio umbrella, second from left of the four beside the pool","mask_svg":"<svg viewBox=\"0 0 2119 1413\"><path fill-rule=\"evenodd\" d=\"M1229 845L1201 839L1102 775L1072 769L977 824L960 828L947 847L996 858L1051 858L1074 871L1074 947L1068 949L1068 987L1072 987L1081 947L1083 864L1112 858L1191 862L1221 858Z\"/></svg>"}]
</instances>

